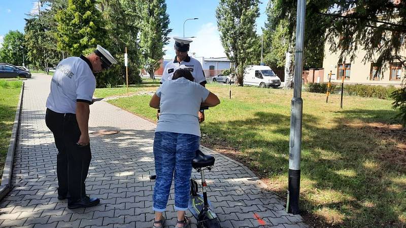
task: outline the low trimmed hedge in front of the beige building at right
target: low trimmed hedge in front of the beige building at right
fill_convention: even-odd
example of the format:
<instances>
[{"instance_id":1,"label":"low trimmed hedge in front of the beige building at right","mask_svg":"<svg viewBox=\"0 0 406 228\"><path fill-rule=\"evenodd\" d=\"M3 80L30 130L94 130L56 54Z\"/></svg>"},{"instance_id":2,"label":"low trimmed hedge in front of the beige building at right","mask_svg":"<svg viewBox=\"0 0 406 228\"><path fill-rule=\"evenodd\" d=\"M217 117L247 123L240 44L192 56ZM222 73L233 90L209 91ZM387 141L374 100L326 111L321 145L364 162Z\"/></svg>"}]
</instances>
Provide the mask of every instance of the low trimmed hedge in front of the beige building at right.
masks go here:
<instances>
[{"instance_id":1,"label":"low trimmed hedge in front of the beige building at right","mask_svg":"<svg viewBox=\"0 0 406 228\"><path fill-rule=\"evenodd\" d=\"M344 85L344 93L360 97L376 97L389 99L390 95L397 89L394 86L374 86L374 85ZM309 83L307 91L311 93L326 93L327 84ZM330 93L341 93L341 84L331 84Z\"/></svg>"}]
</instances>

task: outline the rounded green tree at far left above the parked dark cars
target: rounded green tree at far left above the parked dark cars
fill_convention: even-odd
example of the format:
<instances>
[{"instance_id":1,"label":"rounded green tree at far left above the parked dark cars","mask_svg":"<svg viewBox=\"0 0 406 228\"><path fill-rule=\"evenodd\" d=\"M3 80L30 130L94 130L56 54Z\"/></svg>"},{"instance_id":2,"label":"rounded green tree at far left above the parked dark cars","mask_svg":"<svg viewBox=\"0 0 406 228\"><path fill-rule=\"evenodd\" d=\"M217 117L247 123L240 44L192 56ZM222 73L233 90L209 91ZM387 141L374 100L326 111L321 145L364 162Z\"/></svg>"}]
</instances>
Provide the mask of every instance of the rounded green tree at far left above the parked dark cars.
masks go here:
<instances>
[{"instance_id":1,"label":"rounded green tree at far left above the parked dark cars","mask_svg":"<svg viewBox=\"0 0 406 228\"><path fill-rule=\"evenodd\" d=\"M24 35L18 30L9 31L3 40L0 49L0 62L10 63L20 66L23 63L23 55L27 56L24 46Z\"/></svg>"}]
</instances>

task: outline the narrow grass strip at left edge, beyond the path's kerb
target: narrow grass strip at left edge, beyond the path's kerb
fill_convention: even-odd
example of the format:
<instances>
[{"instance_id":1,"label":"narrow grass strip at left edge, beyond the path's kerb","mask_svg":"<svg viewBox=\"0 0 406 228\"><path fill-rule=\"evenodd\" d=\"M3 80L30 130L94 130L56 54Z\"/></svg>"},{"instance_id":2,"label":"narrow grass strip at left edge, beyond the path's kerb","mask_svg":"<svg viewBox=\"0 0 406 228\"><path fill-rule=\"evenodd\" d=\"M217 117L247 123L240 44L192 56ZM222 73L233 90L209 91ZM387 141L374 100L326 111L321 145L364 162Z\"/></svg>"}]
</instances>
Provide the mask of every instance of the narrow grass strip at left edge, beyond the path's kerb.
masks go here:
<instances>
[{"instance_id":1,"label":"narrow grass strip at left edge, beyond the path's kerb","mask_svg":"<svg viewBox=\"0 0 406 228\"><path fill-rule=\"evenodd\" d=\"M21 85L20 81L0 80L0 176L3 175Z\"/></svg>"}]
</instances>

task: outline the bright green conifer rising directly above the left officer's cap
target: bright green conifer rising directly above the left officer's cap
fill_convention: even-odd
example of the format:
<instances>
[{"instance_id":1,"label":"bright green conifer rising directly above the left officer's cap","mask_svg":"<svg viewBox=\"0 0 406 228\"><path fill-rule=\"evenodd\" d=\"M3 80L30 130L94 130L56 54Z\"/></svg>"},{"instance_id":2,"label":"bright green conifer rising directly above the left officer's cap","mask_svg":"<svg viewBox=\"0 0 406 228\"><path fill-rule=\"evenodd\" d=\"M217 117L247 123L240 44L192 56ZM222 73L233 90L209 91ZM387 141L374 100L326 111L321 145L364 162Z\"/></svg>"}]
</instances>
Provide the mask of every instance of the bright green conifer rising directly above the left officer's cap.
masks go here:
<instances>
[{"instance_id":1,"label":"bright green conifer rising directly above the left officer's cap","mask_svg":"<svg viewBox=\"0 0 406 228\"><path fill-rule=\"evenodd\" d=\"M69 0L55 18L59 50L79 56L94 51L96 45L106 46L107 32L94 0Z\"/></svg>"}]
</instances>

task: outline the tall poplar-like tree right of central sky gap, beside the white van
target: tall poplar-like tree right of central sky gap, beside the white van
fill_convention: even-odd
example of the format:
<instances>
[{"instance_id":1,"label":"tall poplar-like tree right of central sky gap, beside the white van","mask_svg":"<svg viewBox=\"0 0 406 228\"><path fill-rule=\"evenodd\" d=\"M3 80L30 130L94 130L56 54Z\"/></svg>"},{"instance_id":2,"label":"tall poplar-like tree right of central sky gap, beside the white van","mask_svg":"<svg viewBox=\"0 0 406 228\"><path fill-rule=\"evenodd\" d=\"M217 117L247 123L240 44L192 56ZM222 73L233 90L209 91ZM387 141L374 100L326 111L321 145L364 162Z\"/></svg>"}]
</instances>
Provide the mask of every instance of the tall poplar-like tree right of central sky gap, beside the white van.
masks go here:
<instances>
[{"instance_id":1,"label":"tall poplar-like tree right of central sky gap, beside the white van","mask_svg":"<svg viewBox=\"0 0 406 228\"><path fill-rule=\"evenodd\" d=\"M255 55L258 42L255 20L259 0L220 0L216 10L220 39L227 57L236 66L236 83L243 86L245 66Z\"/></svg>"}]
</instances>

